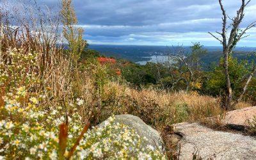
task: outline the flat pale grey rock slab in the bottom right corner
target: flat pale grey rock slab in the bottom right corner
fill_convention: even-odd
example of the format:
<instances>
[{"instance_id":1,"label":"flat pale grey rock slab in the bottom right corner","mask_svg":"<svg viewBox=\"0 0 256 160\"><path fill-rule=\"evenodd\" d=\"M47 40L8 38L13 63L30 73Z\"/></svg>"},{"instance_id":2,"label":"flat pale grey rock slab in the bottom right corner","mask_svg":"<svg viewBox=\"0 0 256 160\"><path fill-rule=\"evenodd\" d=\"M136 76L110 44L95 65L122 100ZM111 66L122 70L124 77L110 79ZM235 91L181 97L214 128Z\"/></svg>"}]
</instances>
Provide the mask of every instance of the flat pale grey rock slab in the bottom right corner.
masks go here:
<instances>
[{"instance_id":1,"label":"flat pale grey rock slab in the bottom right corner","mask_svg":"<svg viewBox=\"0 0 256 160\"><path fill-rule=\"evenodd\" d=\"M243 134L214 131L200 124L175 124L182 133L180 159L256 159L256 138ZM179 147L178 147L179 148Z\"/></svg>"}]
</instances>

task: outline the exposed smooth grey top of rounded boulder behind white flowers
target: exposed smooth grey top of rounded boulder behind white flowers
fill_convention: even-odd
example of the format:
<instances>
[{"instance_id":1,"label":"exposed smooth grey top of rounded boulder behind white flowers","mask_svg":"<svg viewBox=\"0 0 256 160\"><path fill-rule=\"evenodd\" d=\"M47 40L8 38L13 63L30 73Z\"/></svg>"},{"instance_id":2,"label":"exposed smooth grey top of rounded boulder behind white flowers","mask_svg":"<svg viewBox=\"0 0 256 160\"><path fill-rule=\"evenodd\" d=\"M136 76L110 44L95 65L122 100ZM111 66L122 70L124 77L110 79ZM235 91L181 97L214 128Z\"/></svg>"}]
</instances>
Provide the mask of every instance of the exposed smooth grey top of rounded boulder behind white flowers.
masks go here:
<instances>
[{"instance_id":1,"label":"exposed smooth grey top of rounded boulder behind white flowers","mask_svg":"<svg viewBox=\"0 0 256 160\"><path fill-rule=\"evenodd\" d=\"M138 116L116 115L115 122L125 124L131 127L131 129L134 129L134 131L136 131L141 138L147 138L147 141L145 141L146 143L143 144L145 147L147 147L147 145L151 145L154 148L161 147L162 150L164 150L163 140L159 132L145 124L145 122L143 122L143 120L141 120Z\"/></svg>"}]
</instances>

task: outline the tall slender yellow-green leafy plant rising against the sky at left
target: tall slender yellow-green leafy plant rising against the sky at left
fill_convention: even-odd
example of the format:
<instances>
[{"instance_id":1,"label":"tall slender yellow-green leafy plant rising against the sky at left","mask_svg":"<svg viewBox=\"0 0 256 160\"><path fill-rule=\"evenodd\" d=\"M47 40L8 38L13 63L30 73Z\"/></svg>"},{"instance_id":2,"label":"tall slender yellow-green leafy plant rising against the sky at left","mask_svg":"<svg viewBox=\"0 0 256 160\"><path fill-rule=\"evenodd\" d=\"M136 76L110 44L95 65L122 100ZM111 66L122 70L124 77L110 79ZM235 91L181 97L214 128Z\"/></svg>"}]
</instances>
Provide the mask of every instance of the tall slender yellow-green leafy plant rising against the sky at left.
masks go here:
<instances>
[{"instance_id":1,"label":"tall slender yellow-green leafy plant rising against the sky at left","mask_svg":"<svg viewBox=\"0 0 256 160\"><path fill-rule=\"evenodd\" d=\"M86 46L86 40L83 40L83 28L77 28L77 17L72 6L72 0L61 1L61 20L63 23L63 36L68 42L68 52L74 62L77 65L77 61L80 58L81 53Z\"/></svg>"}]
</instances>

